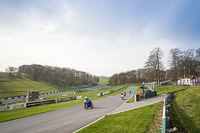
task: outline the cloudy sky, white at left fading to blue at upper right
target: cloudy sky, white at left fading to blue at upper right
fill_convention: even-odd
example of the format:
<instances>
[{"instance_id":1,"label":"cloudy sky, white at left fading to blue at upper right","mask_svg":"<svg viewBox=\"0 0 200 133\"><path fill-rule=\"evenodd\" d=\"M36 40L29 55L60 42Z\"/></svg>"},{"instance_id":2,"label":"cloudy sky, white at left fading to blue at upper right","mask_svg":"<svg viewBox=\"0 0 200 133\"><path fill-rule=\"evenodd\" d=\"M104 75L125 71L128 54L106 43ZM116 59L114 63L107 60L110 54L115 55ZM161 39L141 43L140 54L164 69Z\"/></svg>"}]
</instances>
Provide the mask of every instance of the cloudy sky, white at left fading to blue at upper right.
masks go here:
<instances>
[{"instance_id":1,"label":"cloudy sky, white at left fading to blue at upper right","mask_svg":"<svg viewBox=\"0 0 200 133\"><path fill-rule=\"evenodd\" d=\"M24 64L97 76L143 68L159 47L200 47L199 0L0 0L0 71Z\"/></svg>"}]
</instances>

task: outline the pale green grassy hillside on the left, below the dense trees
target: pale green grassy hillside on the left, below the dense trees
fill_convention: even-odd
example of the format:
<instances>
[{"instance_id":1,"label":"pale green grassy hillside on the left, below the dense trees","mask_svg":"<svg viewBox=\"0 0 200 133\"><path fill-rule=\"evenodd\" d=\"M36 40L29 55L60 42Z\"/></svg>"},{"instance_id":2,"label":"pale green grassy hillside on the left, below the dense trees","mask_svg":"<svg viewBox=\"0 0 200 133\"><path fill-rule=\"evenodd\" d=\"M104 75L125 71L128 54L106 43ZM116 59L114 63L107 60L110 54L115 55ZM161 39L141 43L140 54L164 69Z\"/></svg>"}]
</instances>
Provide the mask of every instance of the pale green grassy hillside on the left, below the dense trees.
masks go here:
<instances>
[{"instance_id":1,"label":"pale green grassy hillside on the left, below the dense trees","mask_svg":"<svg viewBox=\"0 0 200 133\"><path fill-rule=\"evenodd\" d=\"M23 96L27 94L27 91L37 90L40 93L47 93L76 88L77 86L59 87L45 82L33 81L25 77L10 79L7 73L0 73L0 98Z\"/></svg>"}]
</instances>

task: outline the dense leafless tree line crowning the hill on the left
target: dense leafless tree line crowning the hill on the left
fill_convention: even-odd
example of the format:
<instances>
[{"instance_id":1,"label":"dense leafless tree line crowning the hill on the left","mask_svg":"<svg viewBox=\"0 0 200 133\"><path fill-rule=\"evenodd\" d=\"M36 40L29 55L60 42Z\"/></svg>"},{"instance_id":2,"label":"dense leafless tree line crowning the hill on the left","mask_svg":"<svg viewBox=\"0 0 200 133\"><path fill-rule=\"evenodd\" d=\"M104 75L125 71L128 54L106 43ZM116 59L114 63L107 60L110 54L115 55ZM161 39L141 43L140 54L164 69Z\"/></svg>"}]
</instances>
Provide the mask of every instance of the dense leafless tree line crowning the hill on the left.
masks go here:
<instances>
[{"instance_id":1,"label":"dense leafless tree line crowning the hill on the left","mask_svg":"<svg viewBox=\"0 0 200 133\"><path fill-rule=\"evenodd\" d=\"M12 75L13 67L8 67L7 72ZM17 71L20 77L21 73L27 74L28 78L34 81L44 81L59 86L78 86L89 85L99 82L98 76L93 76L90 73L77 71L70 68L60 68L52 66L42 66L37 64L22 65Z\"/></svg>"}]
</instances>

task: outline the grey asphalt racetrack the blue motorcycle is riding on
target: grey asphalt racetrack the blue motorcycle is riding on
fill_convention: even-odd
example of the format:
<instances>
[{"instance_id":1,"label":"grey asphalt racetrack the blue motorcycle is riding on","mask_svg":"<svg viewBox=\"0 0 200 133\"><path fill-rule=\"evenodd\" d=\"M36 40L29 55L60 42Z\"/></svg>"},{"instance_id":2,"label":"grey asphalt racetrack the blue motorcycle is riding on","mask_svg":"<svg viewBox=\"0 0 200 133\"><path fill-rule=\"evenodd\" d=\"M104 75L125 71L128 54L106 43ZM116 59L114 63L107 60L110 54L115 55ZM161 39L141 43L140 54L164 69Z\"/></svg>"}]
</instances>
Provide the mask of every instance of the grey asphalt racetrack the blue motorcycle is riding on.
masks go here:
<instances>
[{"instance_id":1,"label":"grey asphalt racetrack the blue motorcycle is riding on","mask_svg":"<svg viewBox=\"0 0 200 133\"><path fill-rule=\"evenodd\" d=\"M129 94L129 91L133 89L136 89L136 87L129 87L125 90L126 99L132 95L132 93ZM120 94L118 94L93 101L93 109L86 110L83 104L78 104L8 121L0 123L0 133L71 133L111 113L124 102L125 100L122 100Z\"/></svg>"}]
</instances>

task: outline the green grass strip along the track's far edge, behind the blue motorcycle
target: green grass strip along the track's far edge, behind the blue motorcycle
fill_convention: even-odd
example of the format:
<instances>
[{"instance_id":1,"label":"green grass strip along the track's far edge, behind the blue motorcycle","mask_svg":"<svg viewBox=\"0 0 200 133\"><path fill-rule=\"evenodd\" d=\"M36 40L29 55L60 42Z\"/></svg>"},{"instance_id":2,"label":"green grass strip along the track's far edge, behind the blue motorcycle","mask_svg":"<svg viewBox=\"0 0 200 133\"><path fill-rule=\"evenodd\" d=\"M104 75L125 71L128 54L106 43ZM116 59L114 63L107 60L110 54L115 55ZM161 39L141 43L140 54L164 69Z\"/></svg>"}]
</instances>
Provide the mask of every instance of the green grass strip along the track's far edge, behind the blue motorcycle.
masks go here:
<instances>
[{"instance_id":1,"label":"green grass strip along the track's far edge, behind the blue motorcycle","mask_svg":"<svg viewBox=\"0 0 200 133\"><path fill-rule=\"evenodd\" d=\"M76 94L76 95L78 95L78 96L82 95L83 97L88 96L91 100L96 100L96 99L99 99L99 98L119 94L131 85L132 84L128 84L128 85L126 85L125 88L118 90L114 93L102 96L102 97L97 97L96 96L97 93L115 89L116 86L108 87L107 89L98 90L98 91L84 92L84 93L80 93L80 94ZM120 86L122 86L122 85L120 85ZM76 95L68 95L68 97L76 96ZM0 118L1 118L0 122L19 119L19 118L23 118L23 117L27 117L27 116L31 116L31 115L36 115L36 114L40 114L40 113L44 113L44 112L48 112L48 111L52 111L52 110L76 105L76 104L81 104L81 103L83 103L83 99L68 101L68 102L55 103L55 104L49 104L49 105L43 105L43 106L30 107L30 108L25 108L25 109L17 109L17 110L12 110L12 111L7 111L7 112L0 112Z\"/></svg>"}]
</instances>

